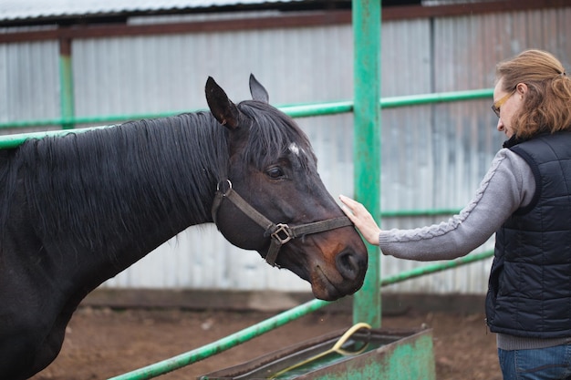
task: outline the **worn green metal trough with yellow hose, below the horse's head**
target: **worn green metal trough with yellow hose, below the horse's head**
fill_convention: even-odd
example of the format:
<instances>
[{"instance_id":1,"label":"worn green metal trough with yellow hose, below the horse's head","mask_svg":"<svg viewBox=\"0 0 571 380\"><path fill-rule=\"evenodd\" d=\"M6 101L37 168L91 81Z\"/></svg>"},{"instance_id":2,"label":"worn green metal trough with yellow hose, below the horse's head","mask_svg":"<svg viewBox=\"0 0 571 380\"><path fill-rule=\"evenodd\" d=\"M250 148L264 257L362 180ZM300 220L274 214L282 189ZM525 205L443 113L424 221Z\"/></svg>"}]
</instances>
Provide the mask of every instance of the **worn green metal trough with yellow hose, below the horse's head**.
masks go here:
<instances>
[{"instance_id":1,"label":"worn green metal trough with yellow hose, below the horse's head","mask_svg":"<svg viewBox=\"0 0 571 380\"><path fill-rule=\"evenodd\" d=\"M435 380L432 331L356 324L198 379Z\"/></svg>"}]
</instances>

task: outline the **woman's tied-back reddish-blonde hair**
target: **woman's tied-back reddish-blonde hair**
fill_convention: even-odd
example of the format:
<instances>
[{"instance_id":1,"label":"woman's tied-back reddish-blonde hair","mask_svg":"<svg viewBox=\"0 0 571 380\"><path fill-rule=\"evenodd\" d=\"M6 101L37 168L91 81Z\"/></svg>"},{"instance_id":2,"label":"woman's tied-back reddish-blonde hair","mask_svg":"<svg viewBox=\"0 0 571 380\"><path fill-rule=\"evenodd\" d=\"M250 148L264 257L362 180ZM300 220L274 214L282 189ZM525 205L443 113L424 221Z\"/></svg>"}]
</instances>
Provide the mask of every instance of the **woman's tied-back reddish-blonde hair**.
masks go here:
<instances>
[{"instance_id":1,"label":"woman's tied-back reddish-blonde hair","mask_svg":"<svg viewBox=\"0 0 571 380\"><path fill-rule=\"evenodd\" d=\"M503 90L514 91L519 83L528 87L521 112L512 120L515 137L571 130L571 78L552 54L525 50L496 66L496 79L504 79Z\"/></svg>"}]
</instances>

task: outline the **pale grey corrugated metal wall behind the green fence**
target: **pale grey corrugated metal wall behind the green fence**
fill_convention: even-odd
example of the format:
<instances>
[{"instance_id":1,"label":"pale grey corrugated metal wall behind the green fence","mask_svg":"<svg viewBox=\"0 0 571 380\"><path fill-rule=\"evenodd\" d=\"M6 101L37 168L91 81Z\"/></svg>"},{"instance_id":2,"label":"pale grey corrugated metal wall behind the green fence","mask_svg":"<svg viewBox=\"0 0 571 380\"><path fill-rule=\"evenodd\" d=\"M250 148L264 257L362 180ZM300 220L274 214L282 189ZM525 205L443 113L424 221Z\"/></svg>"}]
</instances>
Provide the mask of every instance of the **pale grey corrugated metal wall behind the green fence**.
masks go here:
<instances>
[{"instance_id":1,"label":"pale grey corrugated metal wall behind the green fence","mask_svg":"<svg viewBox=\"0 0 571 380\"><path fill-rule=\"evenodd\" d=\"M498 60L545 48L571 67L571 8L385 22L382 97L493 87ZM78 116L205 108L213 76L235 101L254 73L275 105L352 95L351 26L73 41ZM4 83L3 83L4 82ZM382 112L383 211L460 209L470 200L503 136L489 100ZM59 115L57 43L0 45L0 121ZM352 194L352 116L297 120L327 188ZM387 218L408 228L443 217ZM483 249L491 249L492 241ZM382 276L417 262L383 257ZM484 293L490 262L390 287L391 291ZM255 252L234 248L213 226L192 227L106 282L107 287L309 291Z\"/></svg>"}]
</instances>

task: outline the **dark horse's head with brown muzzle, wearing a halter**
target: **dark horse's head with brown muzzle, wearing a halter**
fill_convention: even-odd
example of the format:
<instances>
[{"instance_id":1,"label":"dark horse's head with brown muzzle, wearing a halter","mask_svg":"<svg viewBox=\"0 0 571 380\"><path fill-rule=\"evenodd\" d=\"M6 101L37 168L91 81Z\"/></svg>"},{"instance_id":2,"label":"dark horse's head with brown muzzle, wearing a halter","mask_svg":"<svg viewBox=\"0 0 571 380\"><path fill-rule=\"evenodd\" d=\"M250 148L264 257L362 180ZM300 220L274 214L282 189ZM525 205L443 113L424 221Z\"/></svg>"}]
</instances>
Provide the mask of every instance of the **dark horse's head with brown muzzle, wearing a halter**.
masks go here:
<instances>
[{"instance_id":1,"label":"dark horse's head with brown muzzle, wearing a halter","mask_svg":"<svg viewBox=\"0 0 571 380\"><path fill-rule=\"evenodd\" d=\"M250 77L253 100L234 105L209 77L206 99L227 128L228 171L220 178L213 221L234 245L311 283L317 298L355 293L367 250L317 173L317 158L296 122L268 104Z\"/></svg>"}]
</instances>

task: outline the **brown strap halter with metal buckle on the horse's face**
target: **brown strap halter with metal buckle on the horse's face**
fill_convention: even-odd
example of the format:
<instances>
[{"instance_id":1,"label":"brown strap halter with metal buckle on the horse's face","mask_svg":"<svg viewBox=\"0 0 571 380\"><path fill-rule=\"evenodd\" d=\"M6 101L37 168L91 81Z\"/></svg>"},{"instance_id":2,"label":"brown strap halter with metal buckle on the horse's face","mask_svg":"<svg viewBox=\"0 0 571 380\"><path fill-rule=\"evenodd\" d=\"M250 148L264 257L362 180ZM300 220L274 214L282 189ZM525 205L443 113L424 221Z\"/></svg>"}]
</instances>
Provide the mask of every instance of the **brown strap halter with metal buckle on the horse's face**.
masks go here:
<instances>
[{"instance_id":1,"label":"brown strap halter with metal buckle on the horse's face","mask_svg":"<svg viewBox=\"0 0 571 380\"><path fill-rule=\"evenodd\" d=\"M222 204L224 199L228 199L234 203L240 211L244 212L251 220L255 221L264 229L264 235L270 236L272 241L270 243L270 248L265 255L265 262L272 266L276 266L275 260L277 259L277 253L279 249L287 241L299 238L301 236L317 233L329 230L335 230L340 227L352 226L353 222L348 219L348 217L343 216L339 218L329 219L326 221L313 221L311 223L300 224L297 226L289 227L285 223L275 224L273 221L268 220L259 211L255 210L248 202L244 200L234 189L232 188L232 182L226 180L228 183L228 189L223 191L220 189L220 183L216 186L216 194L213 202L213 221L216 224L216 216L218 214L218 209Z\"/></svg>"}]
</instances>

